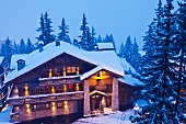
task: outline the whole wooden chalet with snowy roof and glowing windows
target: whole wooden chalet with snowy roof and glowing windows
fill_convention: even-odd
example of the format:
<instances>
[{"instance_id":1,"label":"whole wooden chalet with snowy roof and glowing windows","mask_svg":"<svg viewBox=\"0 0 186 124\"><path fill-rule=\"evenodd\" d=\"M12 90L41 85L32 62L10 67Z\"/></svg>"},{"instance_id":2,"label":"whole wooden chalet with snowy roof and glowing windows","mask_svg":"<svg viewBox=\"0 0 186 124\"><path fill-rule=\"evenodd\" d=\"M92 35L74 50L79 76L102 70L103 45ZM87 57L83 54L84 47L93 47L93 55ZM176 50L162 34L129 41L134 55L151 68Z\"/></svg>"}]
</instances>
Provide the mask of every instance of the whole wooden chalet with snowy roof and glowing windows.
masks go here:
<instances>
[{"instance_id":1,"label":"whole wooden chalet with snowy roof and glowing windows","mask_svg":"<svg viewBox=\"0 0 186 124\"><path fill-rule=\"evenodd\" d=\"M13 55L10 68L4 83L11 84L12 121L118 111L135 98L113 48L85 52L63 42L39 43L31 54Z\"/></svg>"}]
</instances>

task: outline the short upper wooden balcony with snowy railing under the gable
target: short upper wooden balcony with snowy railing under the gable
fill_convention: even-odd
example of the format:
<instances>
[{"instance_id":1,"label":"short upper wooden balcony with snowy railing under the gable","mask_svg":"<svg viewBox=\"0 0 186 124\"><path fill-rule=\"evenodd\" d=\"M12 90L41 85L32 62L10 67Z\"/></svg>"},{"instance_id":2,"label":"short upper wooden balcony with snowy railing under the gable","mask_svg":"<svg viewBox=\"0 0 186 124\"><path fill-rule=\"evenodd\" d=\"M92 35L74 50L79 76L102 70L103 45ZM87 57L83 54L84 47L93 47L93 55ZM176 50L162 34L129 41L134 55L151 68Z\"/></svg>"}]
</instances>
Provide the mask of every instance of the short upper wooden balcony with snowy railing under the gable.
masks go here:
<instances>
[{"instance_id":1,"label":"short upper wooden balcony with snowy railing under the gable","mask_svg":"<svg viewBox=\"0 0 186 124\"><path fill-rule=\"evenodd\" d=\"M62 83L79 82L80 81L80 75L39 78L38 80L39 80L39 86L56 86L56 84L62 84Z\"/></svg>"}]
</instances>

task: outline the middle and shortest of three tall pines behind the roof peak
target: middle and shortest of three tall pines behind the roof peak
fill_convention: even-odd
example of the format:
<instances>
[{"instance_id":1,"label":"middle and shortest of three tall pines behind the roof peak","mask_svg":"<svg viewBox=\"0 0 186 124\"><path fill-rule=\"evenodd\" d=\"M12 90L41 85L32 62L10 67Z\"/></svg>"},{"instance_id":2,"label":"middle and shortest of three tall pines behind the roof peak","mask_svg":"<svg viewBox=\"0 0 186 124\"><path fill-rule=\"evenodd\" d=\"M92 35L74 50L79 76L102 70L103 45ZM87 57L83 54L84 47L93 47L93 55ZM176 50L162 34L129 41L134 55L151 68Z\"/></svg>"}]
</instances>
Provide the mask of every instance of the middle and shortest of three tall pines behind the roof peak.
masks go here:
<instances>
[{"instance_id":1,"label":"middle and shortest of three tall pines behind the roof peak","mask_svg":"<svg viewBox=\"0 0 186 124\"><path fill-rule=\"evenodd\" d=\"M69 25L66 24L65 18L62 18L62 22L61 22L61 25L59 25L59 30L60 30L60 33L58 33L58 40L72 44L68 35Z\"/></svg>"}]
</instances>

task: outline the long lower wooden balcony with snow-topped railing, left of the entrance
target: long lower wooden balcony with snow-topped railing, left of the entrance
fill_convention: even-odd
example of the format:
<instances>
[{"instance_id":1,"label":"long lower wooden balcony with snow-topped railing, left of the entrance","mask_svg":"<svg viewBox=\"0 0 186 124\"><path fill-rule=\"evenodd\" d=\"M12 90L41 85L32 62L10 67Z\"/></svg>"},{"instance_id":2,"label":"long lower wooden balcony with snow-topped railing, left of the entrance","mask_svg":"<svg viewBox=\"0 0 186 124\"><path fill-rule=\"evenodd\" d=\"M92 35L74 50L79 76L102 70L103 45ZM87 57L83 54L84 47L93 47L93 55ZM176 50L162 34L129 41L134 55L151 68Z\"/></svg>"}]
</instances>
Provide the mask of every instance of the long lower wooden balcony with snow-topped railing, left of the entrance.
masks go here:
<instances>
[{"instance_id":1,"label":"long lower wooden balcony with snow-topped railing, left of the entrance","mask_svg":"<svg viewBox=\"0 0 186 124\"><path fill-rule=\"evenodd\" d=\"M8 103L13 105L25 104L25 103L42 103L42 102L54 102L63 100L81 100L83 99L84 91L75 92L63 92L54 94L38 94L38 95L27 95L18 98L8 98Z\"/></svg>"}]
</instances>

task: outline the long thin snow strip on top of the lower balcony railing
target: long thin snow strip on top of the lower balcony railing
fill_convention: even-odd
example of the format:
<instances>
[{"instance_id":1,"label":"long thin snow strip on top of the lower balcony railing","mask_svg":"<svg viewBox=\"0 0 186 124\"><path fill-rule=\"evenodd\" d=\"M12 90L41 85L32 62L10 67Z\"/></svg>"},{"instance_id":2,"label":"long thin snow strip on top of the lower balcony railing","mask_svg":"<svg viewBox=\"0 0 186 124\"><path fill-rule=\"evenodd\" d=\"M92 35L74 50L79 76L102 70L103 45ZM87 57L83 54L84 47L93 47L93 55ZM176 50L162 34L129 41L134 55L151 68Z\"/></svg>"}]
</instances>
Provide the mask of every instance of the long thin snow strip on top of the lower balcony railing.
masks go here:
<instances>
[{"instance_id":1,"label":"long thin snow strip on top of the lower balcony railing","mask_svg":"<svg viewBox=\"0 0 186 124\"><path fill-rule=\"evenodd\" d=\"M55 93L55 94L38 94L38 95L27 95L27 97L19 97L19 98L8 98L8 100L37 99L37 98L69 95L69 94L79 94L79 93L84 93L84 91L63 92L63 93Z\"/></svg>"}]
</instances>

